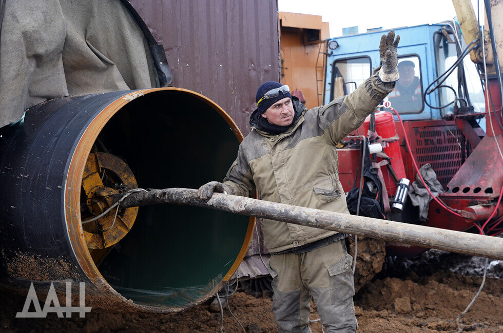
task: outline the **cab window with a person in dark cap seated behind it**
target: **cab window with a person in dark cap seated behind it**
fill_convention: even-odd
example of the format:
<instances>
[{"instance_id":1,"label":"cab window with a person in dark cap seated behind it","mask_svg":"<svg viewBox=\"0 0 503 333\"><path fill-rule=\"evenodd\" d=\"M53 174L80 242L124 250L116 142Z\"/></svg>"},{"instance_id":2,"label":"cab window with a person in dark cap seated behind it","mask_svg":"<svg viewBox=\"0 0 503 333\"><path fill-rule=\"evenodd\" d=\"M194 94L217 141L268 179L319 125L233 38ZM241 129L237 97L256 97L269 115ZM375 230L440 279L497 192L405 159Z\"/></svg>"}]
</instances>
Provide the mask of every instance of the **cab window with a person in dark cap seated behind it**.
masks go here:
<instances>
[{"instance_id":1,"label":"cab window with a person in dark cap seated behind it","mask_svg":"<svg viewBox=\"0 0 503 333\"><path fill-rule=\"evenodd\" d=\"M421 63L419 57L398 58L400 78L395 89L388 95L391 106L399 113L419 113L423 109Z\"/></svg>"}]
</instances>

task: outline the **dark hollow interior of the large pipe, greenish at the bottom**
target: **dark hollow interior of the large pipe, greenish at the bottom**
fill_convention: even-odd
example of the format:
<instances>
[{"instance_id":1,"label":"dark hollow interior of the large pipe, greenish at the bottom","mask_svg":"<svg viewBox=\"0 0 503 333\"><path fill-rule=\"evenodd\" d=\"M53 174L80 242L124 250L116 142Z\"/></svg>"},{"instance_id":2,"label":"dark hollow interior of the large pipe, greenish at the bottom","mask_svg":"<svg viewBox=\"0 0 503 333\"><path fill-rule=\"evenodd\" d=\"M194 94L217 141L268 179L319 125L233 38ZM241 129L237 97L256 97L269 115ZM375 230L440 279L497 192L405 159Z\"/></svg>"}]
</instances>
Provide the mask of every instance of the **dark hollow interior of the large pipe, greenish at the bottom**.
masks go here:
<instances>
[{"instance_id":1,"label":"dark hollow interior of the large pipe, greenish at the bottom","mask_svg":"<svg viewBox=\"0 0 503 333\"><path fill-rule=\"evenodd\" d=\"M204 101L181 91L139 97L99 135L140 188L199 188L221 181L239 142ZM214 294L245 240L248 217L170 204L140 207L131 231L99 265L135 303L177 309Z\"/></svg>"}]
</instances>

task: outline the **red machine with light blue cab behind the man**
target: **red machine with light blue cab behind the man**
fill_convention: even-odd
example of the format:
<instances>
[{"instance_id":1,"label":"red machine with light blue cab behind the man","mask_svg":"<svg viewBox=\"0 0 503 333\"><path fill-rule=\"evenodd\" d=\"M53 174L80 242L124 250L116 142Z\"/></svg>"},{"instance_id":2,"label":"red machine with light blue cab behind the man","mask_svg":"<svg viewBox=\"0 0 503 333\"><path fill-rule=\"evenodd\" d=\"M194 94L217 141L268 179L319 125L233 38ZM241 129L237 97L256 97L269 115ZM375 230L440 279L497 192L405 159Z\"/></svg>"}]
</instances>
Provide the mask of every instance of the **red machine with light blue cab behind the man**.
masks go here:
<instances>
[{"instance_id":1,"label":"red machine with light blue cab behind the man","mask_svg":"<svg viewBox=\"0 0 503 333\"><path fill-rule=\"evenodd\" d=\"M386 112L375 113L377 135L391 138L398 133L399 137L398 141L384 141L382 144L397 177L391 176L393 173L388 165L380 165L383 175L381 192L384 193L384 188L388 190L388 199L393 201L397 192L396 178L402 177L411 182L414 194L424 192L422 189L428 185L422 184L424 180L419 179L417 172L427 163L442 189L434 191L437 197L432 193L421 193L422 198L414 200L421 207L414 206L411 198L417 197L409 195L403 210L385 212L385 219L491 236L503 232L503 87L500 80L503 66L498 65L503 64L503 3L486 4L491 7L486 8L487 19L492 17L494 24L485 25L484 43L477 39L480 38L479 23L472 15L469 2L453 2L458 17L463 17L459 23L394 29L401 36L398 64L407 65L405 61L408 66L412 64L413 82L419 82L410 86L412 76L400 75L396 91L401 93L402 85L411 87L410 93L414 88L414 96L411 96L414 103L411 100L392 102L398 115L387 112L394 110L388 101L383 101L380 110ZM326 57L331 69L327 69L325 76L325 103L358 89L356 82L365 82L367 73L372 73L380 60L379 50L370 45L379 44L381 35L381 31L366 32L327 41L327 48L332 48ZM368 47L362 49L362 45ZM471 70L468 54L477 64ZM483 58L486 61L482 61ZM358 70L354 70L356 68ZM485 108L479 86L472 83L473 70L485 87L482 89ZM398 121L400 117L405 118L403 123ZM361 141L369 138L373 143L375 138L372 133L367 133L369 124L367 118L358 130L338 144L339 179L346 192L360 187ZM379 162L380 158L374 156L373 160ZM386 198L382 199L386 201ZM383 209L388 210L388 206ZM414 256L423 251L425 248L404 244L388 243L386 247L386 253L390 255Z\"/></svg>"}]
</instances>

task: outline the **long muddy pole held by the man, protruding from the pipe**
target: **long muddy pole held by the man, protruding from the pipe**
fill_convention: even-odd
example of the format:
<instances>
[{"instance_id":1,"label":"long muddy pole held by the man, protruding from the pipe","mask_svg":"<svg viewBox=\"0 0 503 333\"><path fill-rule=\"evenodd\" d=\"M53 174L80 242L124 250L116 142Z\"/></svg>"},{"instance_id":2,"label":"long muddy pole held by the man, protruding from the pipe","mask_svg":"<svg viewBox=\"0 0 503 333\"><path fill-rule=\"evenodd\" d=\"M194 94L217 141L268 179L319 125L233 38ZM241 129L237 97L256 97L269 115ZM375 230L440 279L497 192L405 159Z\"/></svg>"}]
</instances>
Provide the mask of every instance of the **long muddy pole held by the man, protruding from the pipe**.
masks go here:
<instances>
[{"instance_id":1,"label":"long muddy pole held by the man, protruding from the pipe","mask_svg":"<svg viewBox=\"0 0 503 333\"><path fill-rule=\"evenodd\" d=\"M206 207L352 235L503 260L503 238L334 213L221 193L215 193L209 200L201 200L197 196L197 190L176 188L151 190L132 193L120 205L121 207L133 207L157 203Z\"/></svg>"}]
</instances>

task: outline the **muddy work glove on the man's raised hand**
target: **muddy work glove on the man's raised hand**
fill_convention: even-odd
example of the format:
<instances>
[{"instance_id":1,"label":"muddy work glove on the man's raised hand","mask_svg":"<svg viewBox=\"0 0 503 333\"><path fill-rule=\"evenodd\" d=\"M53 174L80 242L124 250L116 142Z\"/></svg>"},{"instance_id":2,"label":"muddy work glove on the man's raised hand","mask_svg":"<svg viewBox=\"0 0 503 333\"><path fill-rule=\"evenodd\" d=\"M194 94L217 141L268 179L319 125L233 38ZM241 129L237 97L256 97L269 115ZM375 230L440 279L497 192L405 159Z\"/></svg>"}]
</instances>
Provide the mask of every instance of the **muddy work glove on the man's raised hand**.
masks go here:
<instances>
[{"instance_id":1,"label":"muddy work glove on the man's raised hand","mask_svg":"<svg viewBox=\"0 0 503 333\"><path fill-rule=\"evenodd\" d=\"M396 48L400 41L400 36L396 36L392 30L388 35L382 35L381 43L379 43L379 57L381 58L382 67L379 70L379 78L383 82L395 82L400 78L398 75L398 59Z\"/></svg>"}]
</instances>

